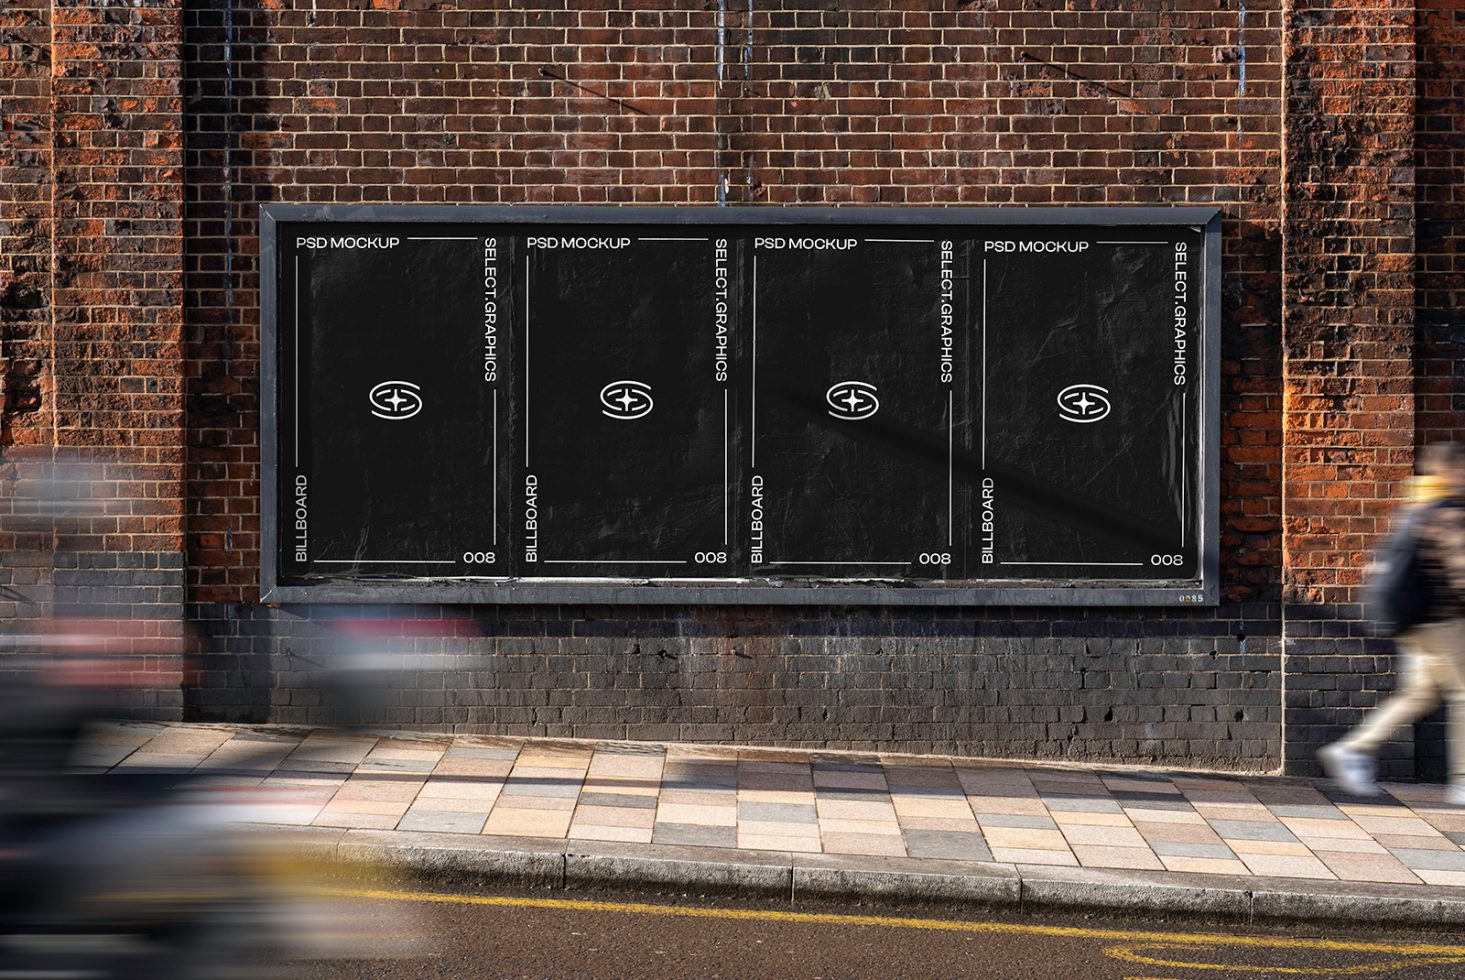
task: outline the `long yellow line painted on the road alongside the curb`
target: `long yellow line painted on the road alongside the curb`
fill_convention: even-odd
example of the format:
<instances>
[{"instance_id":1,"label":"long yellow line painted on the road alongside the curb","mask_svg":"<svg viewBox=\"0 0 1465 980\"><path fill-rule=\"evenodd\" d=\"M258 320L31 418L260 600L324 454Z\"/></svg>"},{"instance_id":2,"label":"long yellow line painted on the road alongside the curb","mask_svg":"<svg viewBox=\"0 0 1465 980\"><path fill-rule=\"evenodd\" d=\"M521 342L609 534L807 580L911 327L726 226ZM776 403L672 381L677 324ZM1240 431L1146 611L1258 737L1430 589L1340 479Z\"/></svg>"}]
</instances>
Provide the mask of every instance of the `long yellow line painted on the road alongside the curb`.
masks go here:
<instances>
[{"instance_id":1,"label":"long yellow line painted on the road alongside the curb","mask_svg":"<svg viewBox=\"0 0 1465 980\"><path fill-rule=\"evenodd\" d=\"M1081 929L996 921L960 921L946 918L907 918L898 916L847 916L839 913L790 913L757 908L703 908L690 905L652 905L649 902L609 902L580 898L508 898L500 895L451 895L444 892L401 892L378 888L316 888L318 895L366 898L387 902L438 902L448 905L486 905L497 908L544 908L582 913L624 913L678 918L727 918L734 921L800 923L819 926L883 926L930 932L968 932L1050 936L1058 939L1115 939L1131 943L1247 946L1260 949L1318 949L1329 952L1374 952L1406 957L1461 957L1465 946L1430 943L1377 943L1336 939L1291 939L1285 936L1222 936L1217 933L1130 932L1122 929Z\"/></svg>"}]
</instances>

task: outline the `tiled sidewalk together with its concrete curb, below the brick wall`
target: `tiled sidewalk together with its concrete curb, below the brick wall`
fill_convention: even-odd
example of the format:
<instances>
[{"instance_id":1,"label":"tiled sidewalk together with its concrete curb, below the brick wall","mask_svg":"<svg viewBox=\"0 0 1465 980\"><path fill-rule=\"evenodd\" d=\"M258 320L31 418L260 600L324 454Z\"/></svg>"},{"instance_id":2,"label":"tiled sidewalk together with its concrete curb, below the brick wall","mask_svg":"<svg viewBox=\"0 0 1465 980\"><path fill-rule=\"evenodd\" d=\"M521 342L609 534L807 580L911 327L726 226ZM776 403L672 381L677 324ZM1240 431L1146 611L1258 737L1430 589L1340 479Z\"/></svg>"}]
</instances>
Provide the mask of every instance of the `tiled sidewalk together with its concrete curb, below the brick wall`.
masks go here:
<instances>
[{"instance_id":1,"label":"tiled sidewalk together with its concrete curb, below the brick wall","mask_svg":"<svg viewBox=\"0 0 1465 980\"><path fill-rule=\"evenodd\" d=\"M220 771L338 857L522 883L1465 924L1437 785L133 722L79 762Z\"/></svg>"}]
</instances>

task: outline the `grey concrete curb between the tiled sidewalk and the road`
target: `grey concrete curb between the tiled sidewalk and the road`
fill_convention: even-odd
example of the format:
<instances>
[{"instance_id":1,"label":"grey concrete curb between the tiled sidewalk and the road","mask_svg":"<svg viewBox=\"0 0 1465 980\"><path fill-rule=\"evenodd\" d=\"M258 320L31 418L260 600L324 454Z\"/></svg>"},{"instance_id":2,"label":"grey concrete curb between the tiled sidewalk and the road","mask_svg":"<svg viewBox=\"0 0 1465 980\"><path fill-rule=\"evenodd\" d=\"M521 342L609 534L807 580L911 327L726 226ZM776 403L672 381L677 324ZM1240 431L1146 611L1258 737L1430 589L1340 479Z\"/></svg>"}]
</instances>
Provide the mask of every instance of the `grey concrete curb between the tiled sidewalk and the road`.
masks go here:
<instances>
[{"instance_id":1,"label":"grey concrete curb between the tiled sidewalk and the road","mask_svg":"<svg viewBox=\"0 0 1465 980\"><path fill-rule=\"evenodd\" d=\"M1163 913L1318 923L1465 926L1465 888L1118 872L655 844L255 825L322 858L444 880L552 891L658 889L977 908Z\"/></svg>"}]
</instances>

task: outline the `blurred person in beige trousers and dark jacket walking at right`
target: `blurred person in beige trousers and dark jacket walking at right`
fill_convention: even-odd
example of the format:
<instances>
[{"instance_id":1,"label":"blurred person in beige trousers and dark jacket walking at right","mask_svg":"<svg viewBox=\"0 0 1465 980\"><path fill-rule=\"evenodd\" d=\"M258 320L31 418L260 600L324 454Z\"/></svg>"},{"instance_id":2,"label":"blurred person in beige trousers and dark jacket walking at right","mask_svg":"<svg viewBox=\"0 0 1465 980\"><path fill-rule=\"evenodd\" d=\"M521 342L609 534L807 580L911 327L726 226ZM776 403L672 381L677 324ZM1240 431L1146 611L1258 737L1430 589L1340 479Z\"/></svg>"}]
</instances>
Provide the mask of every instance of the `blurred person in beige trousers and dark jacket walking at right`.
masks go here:
<instances>
[{"instance_id":1,"label":"blurred person in beige trousers and dark jacket walking at right","mask_svg":"<svg viewBox=\"0 0 1465 980\"><path fill-rule=\"evenodd\" d=\"M1343 791L1374 795L1379 747L1443 700L1449 706L1446 798L1465 806L1465 442L1425 447L1409 510L1418 548L1420 595L1428 601L1401 624L1402 687L1352 732L1318 751Z\"/></svg>"}]
</instances>

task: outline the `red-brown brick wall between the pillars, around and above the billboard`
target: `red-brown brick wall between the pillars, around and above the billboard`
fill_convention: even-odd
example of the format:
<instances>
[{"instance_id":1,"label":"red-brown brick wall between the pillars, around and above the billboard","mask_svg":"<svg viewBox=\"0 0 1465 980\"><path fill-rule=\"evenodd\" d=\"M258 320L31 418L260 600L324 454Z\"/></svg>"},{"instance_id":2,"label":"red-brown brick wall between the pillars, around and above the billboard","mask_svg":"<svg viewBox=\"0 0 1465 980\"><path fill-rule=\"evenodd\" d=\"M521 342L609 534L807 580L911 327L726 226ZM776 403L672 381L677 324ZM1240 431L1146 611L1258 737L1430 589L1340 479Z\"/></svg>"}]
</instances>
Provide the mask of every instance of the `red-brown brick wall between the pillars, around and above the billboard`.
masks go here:
<instances>
[{"instance_id":1,"label":"red-brown brick wall between the pillars, around and above the billboard","mask_svg":"<svg viewBox=\"0 0 1465 980\"><path fill-rule=\"evenodd\" d=\"M722 198L1222 204L1225 583L1275 598L1275 1L397 6L188 12L192 598L256 595L261 202Z\"/></svg>"}]
</instances>

